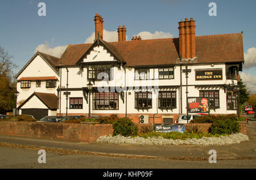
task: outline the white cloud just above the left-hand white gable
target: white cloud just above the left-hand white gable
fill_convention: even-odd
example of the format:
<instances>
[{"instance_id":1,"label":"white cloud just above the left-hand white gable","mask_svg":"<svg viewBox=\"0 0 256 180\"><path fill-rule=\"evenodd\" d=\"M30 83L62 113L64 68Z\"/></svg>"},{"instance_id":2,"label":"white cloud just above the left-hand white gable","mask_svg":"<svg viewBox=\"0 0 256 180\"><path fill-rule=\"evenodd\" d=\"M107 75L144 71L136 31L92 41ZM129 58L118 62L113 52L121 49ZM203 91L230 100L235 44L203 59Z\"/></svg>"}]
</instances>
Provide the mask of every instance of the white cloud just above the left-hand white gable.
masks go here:
<instances>
[{"instance_id":1,"label":"white cloud just above the left-hand white gable","mask_svg":"<svg viewBox=\"0 0 256 180\"><path fill-rule=\"evenodd\" d=\"M53 41L54 41L54 39L53 39ZM35 53L37 51L39 51L39 52L46 53L46 54L49 54L49 55L53 55L55 57L60 58L61 55L64 53L66 48L67 48L67 46L56 46L54 48L51 48L51 46L46 41L45 44L40 44L36 47Z\"/></svg>"}]
</instances>

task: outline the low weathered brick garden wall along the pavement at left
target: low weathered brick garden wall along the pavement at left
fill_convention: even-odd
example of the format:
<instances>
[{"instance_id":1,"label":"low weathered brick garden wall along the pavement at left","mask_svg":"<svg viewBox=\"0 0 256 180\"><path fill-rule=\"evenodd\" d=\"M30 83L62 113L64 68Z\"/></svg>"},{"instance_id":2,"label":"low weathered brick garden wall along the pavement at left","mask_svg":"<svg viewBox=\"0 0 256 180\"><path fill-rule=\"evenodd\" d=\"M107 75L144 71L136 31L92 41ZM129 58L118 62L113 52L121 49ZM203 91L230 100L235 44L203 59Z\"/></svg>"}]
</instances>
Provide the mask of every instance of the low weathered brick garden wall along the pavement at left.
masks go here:
<instances>
[{"instance_id":1,"label":"low weathered brick garden wall along the pavement at left","mask_svg":"<svg viewBox=\"0 0 256 180\"><path fill-rule=\"evenodd\" d=\"M113 134L113 125L2 121L0 134L92 143L100 136Z\"/></svg>"}]
</instances>

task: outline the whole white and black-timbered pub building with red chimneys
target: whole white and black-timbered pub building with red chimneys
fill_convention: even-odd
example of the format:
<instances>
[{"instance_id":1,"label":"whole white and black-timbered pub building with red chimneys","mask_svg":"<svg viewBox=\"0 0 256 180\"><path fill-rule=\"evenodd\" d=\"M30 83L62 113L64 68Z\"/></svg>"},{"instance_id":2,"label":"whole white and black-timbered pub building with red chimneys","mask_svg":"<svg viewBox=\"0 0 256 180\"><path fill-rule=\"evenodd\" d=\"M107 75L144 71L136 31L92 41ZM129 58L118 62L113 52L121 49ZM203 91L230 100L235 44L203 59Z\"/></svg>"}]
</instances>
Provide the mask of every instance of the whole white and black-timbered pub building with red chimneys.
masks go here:
<instances>
[{"instance_id":1,"label":"whole white and black-timbered pub building with red chimneys","mask_svg":"<svg viewBox=\"0 0 256 180\"><path fill-rule=\"evenodd\" d=\"M117 114L135 123L173 123L187 113L187 97L207 97L210 114L237 114L243 33L196 36L195 20L186 18L176 38L126 40L119 25L118 41L106 42L103 22L94 16L92 44L68 45L60 58L37 52L20 70L20 114Z\"/></svg>"}]
</instances>

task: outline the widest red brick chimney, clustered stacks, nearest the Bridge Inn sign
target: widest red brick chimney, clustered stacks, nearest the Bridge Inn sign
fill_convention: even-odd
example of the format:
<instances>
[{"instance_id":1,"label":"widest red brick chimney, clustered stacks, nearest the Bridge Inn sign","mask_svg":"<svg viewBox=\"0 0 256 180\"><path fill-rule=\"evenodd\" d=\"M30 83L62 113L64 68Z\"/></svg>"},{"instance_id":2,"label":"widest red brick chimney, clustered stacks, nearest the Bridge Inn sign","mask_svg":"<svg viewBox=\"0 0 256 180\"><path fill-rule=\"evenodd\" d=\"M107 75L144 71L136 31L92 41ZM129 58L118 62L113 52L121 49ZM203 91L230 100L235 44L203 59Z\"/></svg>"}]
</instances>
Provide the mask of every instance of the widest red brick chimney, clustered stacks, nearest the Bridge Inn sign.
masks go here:
<instances>
[{"instance_id":1,"label":"widest red brick chimney, clustered stacks, nearest the Bridge Inn sign","mask_svg":"<svg viewBox=\"0 0 256 180\"><path fill-rule=\"evenodd\" d=\"M196 57L196 26L195 20L188 18L179 22L179 54L182 59L193 59Z\"/></svg>"}]
</instances>

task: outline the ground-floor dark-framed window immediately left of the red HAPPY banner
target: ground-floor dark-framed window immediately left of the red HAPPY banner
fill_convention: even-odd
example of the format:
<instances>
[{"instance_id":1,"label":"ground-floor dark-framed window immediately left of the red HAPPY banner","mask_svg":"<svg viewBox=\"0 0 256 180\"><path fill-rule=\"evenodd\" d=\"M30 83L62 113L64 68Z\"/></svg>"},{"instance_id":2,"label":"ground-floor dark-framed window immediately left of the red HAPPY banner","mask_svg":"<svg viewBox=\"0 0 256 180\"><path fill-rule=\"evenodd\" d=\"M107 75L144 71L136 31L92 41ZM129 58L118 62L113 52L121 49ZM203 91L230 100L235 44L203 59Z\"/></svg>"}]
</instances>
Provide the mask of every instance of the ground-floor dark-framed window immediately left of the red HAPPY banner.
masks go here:
<instances>
[{"instance_id":1,"label":"ground-floor dark-framed window immediately left of the red HAPPY banner","mask_svg":"<svg viewBox=\"0 0 256 180\"><path fill-rule=\"evenodd\" d=\"M163 97L163 93L170 93L171 97ZM174 95L174 93L175 93L175 95ZM164 99L166 99L167 101L170 100L169 107L163 106ZM174 106L174 104L175 104L175 106ZM158 92L158 109L175 109L175 108L177 108L177 92L176 91L159 91Z\"/></svg>"}]
</instances>

